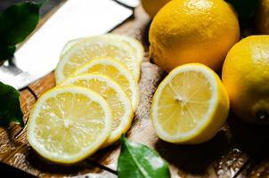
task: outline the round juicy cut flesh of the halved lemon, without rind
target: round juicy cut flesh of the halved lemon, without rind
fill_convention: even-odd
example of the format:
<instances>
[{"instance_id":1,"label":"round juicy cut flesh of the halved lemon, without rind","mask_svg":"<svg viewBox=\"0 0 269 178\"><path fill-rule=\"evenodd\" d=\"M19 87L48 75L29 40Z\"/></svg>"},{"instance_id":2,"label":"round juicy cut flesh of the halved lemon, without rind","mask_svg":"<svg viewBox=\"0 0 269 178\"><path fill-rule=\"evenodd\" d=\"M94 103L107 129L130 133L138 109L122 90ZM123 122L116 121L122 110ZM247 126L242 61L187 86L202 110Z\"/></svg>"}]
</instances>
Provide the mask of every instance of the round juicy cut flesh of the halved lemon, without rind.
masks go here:
<instances>
[{"instance_id":1,"label":"round juicy cut flesh of the halved lemon, without rind","mask_svg":"<svg viewBox=\"0 0 269 178\"><path fill-rule=\"evenodd\" d=\"M188 133L207 115L211 97L212 86L204 75L180 73L160 95L158 122L167 134Z\"/></svg>"}]
</instances>

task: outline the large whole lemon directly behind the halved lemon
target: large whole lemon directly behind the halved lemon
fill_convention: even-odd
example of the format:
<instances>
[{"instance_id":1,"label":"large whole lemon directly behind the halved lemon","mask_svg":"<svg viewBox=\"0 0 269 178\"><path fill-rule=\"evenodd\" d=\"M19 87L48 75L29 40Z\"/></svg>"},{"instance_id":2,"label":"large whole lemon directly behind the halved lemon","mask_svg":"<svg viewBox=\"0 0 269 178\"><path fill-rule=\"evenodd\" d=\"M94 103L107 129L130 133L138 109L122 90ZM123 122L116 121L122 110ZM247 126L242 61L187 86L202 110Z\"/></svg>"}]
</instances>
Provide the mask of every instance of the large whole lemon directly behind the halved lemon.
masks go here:
<instances>
[{"instance_id":1,"label":"large whole lemon directly behind the halved lemon","mask_svg":"<svg viewBox=\"0 0 269 178\"><path fill-rule=\"evenodd\" d=\"M239 38L239 22L230 4L222 0L173 0L151 23L150 55L166 71L191 62L218 71Z\"/></svg>"}]
</instances>

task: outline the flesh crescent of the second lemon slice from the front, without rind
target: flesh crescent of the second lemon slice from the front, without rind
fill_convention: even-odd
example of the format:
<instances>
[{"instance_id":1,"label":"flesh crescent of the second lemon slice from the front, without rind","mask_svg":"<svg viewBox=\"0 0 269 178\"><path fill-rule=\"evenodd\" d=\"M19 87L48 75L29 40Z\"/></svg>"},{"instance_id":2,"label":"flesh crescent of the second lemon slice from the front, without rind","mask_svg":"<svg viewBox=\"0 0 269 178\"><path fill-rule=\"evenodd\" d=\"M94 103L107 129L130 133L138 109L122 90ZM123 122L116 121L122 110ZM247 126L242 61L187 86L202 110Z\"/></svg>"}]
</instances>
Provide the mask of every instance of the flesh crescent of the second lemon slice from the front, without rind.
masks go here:
<instances>
[{"instance_id":1,"label":"flesh crescent of the second lemon slice from the front, without rind","mask_svg":"<svg viewBox=\"0 0 269 178\"><path fill-rule=\"evenodd\" d=\"M99 93L108 103L112 113L112 132L118 128L122 118L125 115L126 107L120 102L120 96L106 82L96 79L81 79L72 83L72 85L83 86L90 88L96 93Z\"/></svg>"}]
</instances>

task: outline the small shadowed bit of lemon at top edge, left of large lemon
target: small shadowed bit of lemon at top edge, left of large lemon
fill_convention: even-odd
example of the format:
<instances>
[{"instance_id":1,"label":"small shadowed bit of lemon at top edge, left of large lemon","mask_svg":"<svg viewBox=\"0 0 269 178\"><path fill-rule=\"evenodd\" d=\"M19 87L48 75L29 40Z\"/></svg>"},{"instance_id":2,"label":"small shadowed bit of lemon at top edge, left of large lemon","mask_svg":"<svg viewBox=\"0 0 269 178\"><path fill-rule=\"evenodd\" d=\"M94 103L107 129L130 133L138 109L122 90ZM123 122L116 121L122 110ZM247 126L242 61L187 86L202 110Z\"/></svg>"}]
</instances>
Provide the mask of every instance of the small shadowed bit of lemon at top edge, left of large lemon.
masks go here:
<instances>
[{"instance_id":1,"label":"small shadowed bit of lemon at top edge, left of large lemon","mask_svg":"<svg viewBox=\"0 0 269 178\"><path fill-rule=\"evenodd\" d=\"M151 18L153 18L160 8L162 8L170 0L142 0L143 9L147 12Z\"/></svg>"}]
</instances>

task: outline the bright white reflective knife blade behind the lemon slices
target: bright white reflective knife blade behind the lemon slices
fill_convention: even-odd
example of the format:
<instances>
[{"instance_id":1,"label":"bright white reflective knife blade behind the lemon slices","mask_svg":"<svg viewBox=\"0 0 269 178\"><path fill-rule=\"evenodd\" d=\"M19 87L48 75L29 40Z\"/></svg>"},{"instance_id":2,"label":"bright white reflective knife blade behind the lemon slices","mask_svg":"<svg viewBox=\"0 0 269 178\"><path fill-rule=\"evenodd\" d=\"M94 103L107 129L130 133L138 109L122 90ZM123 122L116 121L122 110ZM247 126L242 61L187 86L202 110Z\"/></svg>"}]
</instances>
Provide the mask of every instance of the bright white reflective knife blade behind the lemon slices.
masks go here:
<instances>
[{"instance_id":1,"label":"bright white reflective knife blade behind the lemon slices","mask_svg":"<svg viewBox=\"0 0 269 178\"><path fill-rule=\"evenodd\" d=\"M138 0L68 0L0 67L0 81L21 89L55 69L72 39L101 35L133 14Z\"/></svg>"}]
</instances>

